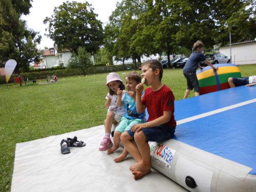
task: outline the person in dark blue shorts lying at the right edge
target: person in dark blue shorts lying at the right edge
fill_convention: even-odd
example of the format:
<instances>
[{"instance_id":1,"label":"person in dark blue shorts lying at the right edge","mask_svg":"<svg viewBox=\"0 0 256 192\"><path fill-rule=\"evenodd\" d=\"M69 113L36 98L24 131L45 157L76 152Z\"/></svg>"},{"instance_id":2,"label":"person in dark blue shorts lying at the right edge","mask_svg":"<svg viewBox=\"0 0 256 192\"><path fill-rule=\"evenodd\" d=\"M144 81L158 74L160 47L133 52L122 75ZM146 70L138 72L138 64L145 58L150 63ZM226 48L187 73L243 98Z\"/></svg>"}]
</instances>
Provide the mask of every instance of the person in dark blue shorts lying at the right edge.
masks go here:
<instances>
[{"instance_id":1,"label":"person in dark blue shorts lying at the right edge","mask_svg":"<svg viewBox=\"0 0 256 192\"><path fill-rule=\"evenodd\" d=\"M228 84L230 88L234 88L237 86L255 86L256 84L256 75L252 75L249 77L229 77L228 78Z\"/></svg>"}]
</instances>

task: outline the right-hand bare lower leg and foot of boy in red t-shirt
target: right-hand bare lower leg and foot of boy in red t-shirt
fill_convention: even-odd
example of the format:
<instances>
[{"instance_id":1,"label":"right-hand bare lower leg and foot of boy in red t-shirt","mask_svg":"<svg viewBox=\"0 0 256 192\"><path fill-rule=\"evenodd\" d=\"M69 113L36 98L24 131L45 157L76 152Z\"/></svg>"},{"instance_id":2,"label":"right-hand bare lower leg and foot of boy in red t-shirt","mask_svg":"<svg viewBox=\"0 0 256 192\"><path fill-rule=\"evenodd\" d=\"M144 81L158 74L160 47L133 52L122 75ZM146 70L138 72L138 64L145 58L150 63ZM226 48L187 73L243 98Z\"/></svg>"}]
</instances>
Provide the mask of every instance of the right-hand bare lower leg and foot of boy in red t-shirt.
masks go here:
<instances>
[{"instance_id":1,"label":"right-hand bare lower leg and foot of boy in red t-shirt","mask_svg":"<svg viewBox=\"0 0 256 192\"><path fill-rule=\"evenodd\" d=\"M134 139L137 143L142 160L138 163L131 165L130 170L132 172L148 171L151 169L150 145L148 145L147 139L142 131L136 132L134 135Z\"/></svg>"}]
</instances>

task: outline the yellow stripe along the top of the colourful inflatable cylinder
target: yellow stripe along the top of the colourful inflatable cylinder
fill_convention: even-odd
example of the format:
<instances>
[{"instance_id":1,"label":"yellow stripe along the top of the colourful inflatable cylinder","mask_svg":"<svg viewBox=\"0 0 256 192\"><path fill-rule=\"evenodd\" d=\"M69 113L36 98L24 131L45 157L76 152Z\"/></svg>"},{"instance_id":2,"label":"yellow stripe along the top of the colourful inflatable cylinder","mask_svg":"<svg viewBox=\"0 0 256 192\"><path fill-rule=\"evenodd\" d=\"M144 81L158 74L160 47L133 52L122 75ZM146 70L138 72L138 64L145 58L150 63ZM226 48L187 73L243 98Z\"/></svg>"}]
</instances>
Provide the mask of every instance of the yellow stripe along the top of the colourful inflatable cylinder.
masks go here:
<instances>
[{"instance_id":1,"label":"yellow stripe along the top of the colourful inflatable cylinder","mask_svg":"<svg viewBox=\"0 0 256 192\"><path fill-rule=\"evenodd\" d=\"M218 75L226 74L226 73L236 73L236 72L239 72L239 73L241 72L240 69L236 66L219 67L219 69L217 70ZM204 79L211 76L215 76L214 70L209 69L207 71L197 74L197 79L200 80L200 79Z\"/></svg>"}]
</instances>

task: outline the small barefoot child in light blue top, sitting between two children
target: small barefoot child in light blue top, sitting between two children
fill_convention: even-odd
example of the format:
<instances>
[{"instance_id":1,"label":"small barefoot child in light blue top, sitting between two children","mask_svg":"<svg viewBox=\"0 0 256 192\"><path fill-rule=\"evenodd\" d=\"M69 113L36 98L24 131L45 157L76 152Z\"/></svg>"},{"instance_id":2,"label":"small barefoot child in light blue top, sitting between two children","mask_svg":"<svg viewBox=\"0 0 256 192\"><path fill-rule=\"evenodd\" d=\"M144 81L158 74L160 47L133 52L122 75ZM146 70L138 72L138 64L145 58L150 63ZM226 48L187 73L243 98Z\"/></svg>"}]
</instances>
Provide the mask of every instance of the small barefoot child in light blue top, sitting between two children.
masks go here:
<instances>
[{"instance_id":1,"label":"small barefoot child in light blue top, sitting between two children","mask_svg":"<svg viewBox=\"0 0 256 192\"><path fill-rule=\"evenodd\" d=\"M130 130L134 124L144 123L145 113L144 111L142 113L138 113L136 111L136 102L135 102L136 86L140 82L141 82L140 74L138 74L137 72L130 72L127 75L125 75L125 84L126 84L125 87L127 92L122 97L122 91L121 90L117 91L118 100L119 100L119 102L117 103L118 104L121 103L120 100L123 101L125 113L124 113L124 116L121 118L121 122L115 129L114 146L109 148L108 154L112 154L119 148L119 144L121 141L120 136L124 131ZM114 161L120 162L127 155L128 155L128 152L124 148L123 153L117 158L115 158Z\"/></svg>"}]
</instances>

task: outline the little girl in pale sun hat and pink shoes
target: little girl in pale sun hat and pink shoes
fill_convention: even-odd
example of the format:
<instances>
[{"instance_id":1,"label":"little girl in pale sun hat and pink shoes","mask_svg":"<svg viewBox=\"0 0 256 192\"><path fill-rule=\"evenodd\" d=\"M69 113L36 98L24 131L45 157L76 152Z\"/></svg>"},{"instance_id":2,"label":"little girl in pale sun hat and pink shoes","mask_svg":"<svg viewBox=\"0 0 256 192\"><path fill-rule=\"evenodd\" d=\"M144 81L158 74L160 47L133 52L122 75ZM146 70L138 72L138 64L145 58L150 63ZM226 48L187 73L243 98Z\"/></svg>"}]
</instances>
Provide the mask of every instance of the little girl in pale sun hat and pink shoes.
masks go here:
<instances>
[{"instance_id":1,"label":"little girl in pale sun hat and pink shoes","mask_svg":"<svg viewBox=\"0 0 256 192\"><path fill-rule=\"evenodd\" d=\"M110 73L106 77L106 86L109 88L109 93L106 95L105 102L105 108L108 109L108 113L106 114L106 119L104 121L105 135L100 142L99 151L108 150L109 147L113 146L110 139L112 124L119 123L124 115L123 104L120 104L119 106L116 105L118 98L117 91L119 89L124 90L123 81L120 79L118 74Z\"/></svg>"}]
</instances>

